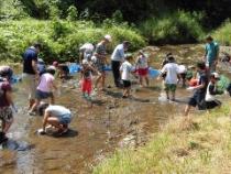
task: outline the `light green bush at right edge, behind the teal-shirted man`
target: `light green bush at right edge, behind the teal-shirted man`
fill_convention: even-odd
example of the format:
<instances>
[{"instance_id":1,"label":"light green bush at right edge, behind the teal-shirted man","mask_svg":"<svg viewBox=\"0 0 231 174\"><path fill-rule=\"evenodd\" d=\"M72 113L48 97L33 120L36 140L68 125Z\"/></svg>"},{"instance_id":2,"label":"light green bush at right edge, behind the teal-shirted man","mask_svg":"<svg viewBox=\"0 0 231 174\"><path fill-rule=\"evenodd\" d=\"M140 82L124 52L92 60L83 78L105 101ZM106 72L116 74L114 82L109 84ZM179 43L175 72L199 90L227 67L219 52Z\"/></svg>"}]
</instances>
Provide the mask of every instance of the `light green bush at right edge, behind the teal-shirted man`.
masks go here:
<instances>
[{"instance_id":1,"label":"light green bush at right edge, behind the teal-shirted man","mask_svg":"<svg viewBox=\"0 0 231 174\"><path fill-rule=\"evenodd\" d=\"M226 21L219 29L217 29L212 35L218 40L222 45L231 45L231 22L230 20Z\"/></svg>"}]
</instances>

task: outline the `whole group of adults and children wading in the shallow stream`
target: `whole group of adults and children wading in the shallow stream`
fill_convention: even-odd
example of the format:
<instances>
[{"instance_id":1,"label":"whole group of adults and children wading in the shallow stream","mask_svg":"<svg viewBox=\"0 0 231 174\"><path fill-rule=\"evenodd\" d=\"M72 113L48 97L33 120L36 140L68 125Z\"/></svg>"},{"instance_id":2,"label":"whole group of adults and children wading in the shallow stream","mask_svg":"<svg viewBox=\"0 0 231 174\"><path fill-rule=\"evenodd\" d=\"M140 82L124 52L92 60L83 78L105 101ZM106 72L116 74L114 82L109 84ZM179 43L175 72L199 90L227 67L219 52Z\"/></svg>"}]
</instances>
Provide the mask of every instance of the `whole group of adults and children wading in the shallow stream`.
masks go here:
<instances>
[{"instance_id":1,"label":"whole group of adults and children wading in the shallow stream","mask_svg":"<svg viewBox=\"0 0 231 174\"><path fill-rule=\"evenodd\" d=\"M82 97L92 107L92 90L105 90L106 86L106 65L108 64L107 45L111 42L110 35L105 35L96 47L86 43L80 47L80 86ZM148 86L148 56L140 51L138 57L127 54L131 43L123 41L116 46L111 55L111 69L114 79L114 86L122 88L122 98L131 96L131 79L139 78L140 86ZM69 74L66 64L54 62L46 66L44 61L38 58L42 45L35 43L29 47L23 55L23 81L26 84L29 93L29 115L43 116L43 131L46 133L46 126L55 128L59 134L68 130L72 121L72 111L56 105L55 77L66 78ZM188 116L191 107L198 106L199 109L211 109L220 106L221 102L216 99L216 95L222 94L217 89L219 74L216 73L216 66L219 56L219 45L211 36L207 37L206 54L202 62L197 63L196 67L186 68L185 65L178 65L172 53L167 54L161 67L158 79L164 81L166 98L175 100L177 84L182 80L183 86L188 85L188 90L194 90L194 95L185 109L185 116ZM18 111L12 99L11 78L13 70L9 66L0 66L0 120L2 121L2 131L0 131L0 143L7 141L6 133L13 122L13 111ZM95 84L92 76L96 77ZM50 99L50 104L43 102Z\"/></svg>"}]
</instances>

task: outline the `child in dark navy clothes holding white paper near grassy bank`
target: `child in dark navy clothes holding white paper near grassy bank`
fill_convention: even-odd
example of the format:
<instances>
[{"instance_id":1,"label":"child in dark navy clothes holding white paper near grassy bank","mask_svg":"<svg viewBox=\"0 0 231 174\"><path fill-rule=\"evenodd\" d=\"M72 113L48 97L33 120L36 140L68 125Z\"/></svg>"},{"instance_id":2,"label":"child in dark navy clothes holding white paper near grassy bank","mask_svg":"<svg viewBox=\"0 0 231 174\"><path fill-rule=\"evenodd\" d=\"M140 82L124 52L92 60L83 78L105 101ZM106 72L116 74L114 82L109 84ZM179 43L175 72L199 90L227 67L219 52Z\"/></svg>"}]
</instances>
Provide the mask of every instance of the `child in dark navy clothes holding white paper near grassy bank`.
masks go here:
<instances>
[{"instance_id":1,"label":"child in dark navy clothes holding white paper near grassy bank","mask_svg":"<svg viewBox=\"0 0 231 174\"><path fill-rule=\"evenodd\" d=\"M191 107L198 106L199 110L205 109L204 100L206 97L208 77L207 77L206 64L204 62L197 63L197 72L199 73L199 81L197 86L188 88L188 90L195 90L195 93L185 108L185 116L188 116Z\"/></svg>"}]
</instances>

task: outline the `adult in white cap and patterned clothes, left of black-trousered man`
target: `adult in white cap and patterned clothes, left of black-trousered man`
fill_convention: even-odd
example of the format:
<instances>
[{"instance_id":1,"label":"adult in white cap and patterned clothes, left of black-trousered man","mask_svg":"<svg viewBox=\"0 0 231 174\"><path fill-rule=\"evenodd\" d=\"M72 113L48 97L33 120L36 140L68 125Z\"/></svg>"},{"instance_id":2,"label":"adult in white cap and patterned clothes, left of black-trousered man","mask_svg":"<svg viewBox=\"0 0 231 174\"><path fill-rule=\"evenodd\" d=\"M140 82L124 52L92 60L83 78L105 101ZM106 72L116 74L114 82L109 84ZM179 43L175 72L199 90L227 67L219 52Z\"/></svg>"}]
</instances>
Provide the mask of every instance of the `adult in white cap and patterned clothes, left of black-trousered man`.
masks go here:
<instances>
[{"instance_id":1,"label":"adult in white cap and patterned clothes, left of black-trousered man","mask_svg":"<svg viewBox=\"0 0 231 174\"><path fill-rule=\"evenodd\" d=\"M107 63L107 45L111 42L110 35L105 35L105 37L97 44L96 51L95 51L95 57L96 57L96 67L100 75L96 79L95 87L98 87L98 84L101 83L101 90L105 89L105 80L106 80L106 63Z\"/></svg>"}]
</instances>

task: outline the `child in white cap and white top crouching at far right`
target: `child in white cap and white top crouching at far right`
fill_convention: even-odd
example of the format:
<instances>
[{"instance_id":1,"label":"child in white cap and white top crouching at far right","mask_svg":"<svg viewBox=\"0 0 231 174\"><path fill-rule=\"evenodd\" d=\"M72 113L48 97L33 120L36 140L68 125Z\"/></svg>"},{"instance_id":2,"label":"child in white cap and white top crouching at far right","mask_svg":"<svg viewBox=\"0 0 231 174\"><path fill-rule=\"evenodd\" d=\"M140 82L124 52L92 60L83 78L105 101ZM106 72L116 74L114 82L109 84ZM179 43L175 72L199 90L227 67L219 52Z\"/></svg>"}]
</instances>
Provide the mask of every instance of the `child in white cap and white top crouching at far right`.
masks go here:
<instances>
[{"instance_id":1,"label":"child in white cap and white top crouching at far right","mask_svg":"<svg viewBox=\"0 0 231 174\"><path fill-rule=\"evenodd\" d=\"M219 77L218 73L212 73L210 75L210 81L209 81L209 85L207 87L207 93L206 93L206 107L207 107L207 109L212 109L212 108L221 106L221 101L216 99L216 95L222 95L223 94L222 91L219 91L216 87L217 81L219 79L220 79L220 77Z\"/></svg>"}]
</instances>

